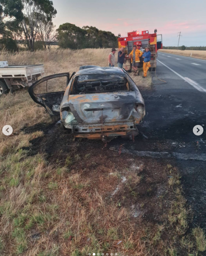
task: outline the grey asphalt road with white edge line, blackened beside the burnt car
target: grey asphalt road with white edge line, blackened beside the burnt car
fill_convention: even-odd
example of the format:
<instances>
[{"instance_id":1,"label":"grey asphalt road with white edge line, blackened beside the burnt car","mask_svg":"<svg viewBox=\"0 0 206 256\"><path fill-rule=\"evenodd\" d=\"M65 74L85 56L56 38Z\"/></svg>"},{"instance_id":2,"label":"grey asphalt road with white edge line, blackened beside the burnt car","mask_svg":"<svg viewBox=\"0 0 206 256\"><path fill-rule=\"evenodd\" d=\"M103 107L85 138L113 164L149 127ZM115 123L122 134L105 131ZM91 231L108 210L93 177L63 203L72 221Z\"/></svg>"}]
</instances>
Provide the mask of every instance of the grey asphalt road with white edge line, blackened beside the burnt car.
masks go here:
<instances>
[{"instance_id":1,"label":"grey asphalt road with white edge line, blackened beside the burnt car","mask_svg":"<svg viewBox=\"0 0 206 256\"><path fill-rule=\"evenodd\" d=\"M139 129L148 140L138 141L135 150L205 155L206 61L159 53L156 75L167 84L141 91L148 116ZM161 82L154 77L154 83ZM200 136L192 132L197 124L204 125ZM206 230L206 162L174 159L173 164L181 172L194 225Z\"/></svg>"}]
</instances>

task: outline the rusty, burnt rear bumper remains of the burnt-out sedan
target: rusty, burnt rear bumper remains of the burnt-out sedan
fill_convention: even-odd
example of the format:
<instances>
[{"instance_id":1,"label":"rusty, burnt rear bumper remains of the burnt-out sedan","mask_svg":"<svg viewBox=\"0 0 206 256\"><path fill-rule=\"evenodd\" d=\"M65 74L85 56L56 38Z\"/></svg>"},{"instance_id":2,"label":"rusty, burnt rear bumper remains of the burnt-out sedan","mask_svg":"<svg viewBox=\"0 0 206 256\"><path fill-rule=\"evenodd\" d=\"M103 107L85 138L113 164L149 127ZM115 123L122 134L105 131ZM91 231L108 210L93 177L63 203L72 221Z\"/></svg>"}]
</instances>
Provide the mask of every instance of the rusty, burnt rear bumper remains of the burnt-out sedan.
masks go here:
<instances>
[{"instance_id":1,"label":"rusty, burnt rear bumper remains of the burnt-out sedan","mask_svg":"<svg viewBox=\"0 0 206 256\"><path fill-rule=\"evenodd\" d=\"M72 133L75 137L88 139L112 139L117 136L126 136L136 131L136 125L132 121L108 124L74 124L72 127Z\"/></svg>"}]
</instances>

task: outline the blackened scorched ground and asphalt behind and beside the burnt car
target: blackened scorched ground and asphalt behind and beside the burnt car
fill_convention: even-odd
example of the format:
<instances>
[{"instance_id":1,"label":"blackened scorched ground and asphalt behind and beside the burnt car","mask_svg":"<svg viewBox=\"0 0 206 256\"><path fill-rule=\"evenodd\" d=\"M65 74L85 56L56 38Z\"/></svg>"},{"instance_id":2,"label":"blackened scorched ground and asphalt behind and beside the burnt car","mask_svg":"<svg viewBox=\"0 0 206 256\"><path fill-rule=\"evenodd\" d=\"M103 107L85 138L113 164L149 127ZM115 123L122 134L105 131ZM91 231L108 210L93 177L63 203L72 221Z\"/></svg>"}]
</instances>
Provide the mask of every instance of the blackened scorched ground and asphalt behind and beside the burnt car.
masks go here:
<instances>
[{"instance_id":1,"label":"blackened scorched ground and asphalt behind and beside the burnt car","mask_svg":"<svg viewBox=\"0 0 206 256\"><path fill-rule=\"evenodd\" d=\"M159 73L160 76L163 76L162 72ZM161 223L161 216L164 215L167 205L159 199L159 195L166 194L164 184L168 177L176 175L170 173L166 166L177 167L181 173L184 196L192 207L191 227L198 225L206 231L206 161L184 160L179 157L183 154L202 156L202 159L206 157L206 132L201 136L192 132L195 125L206 124L206 95L184 80L174 80L170 76L165 79L165 85L154 85L150 90L141 88L147 116L138 127L140 134L134 141L118 138L104 144L99 140L74 139L57 120L49 125L29 127L25 132L44 132L42 137L31 142L31 154L45 153L49 163L59 165L65 165L68 155L71 156L74 159L71 172L80 172L83 177L92 179L94 184L98 183L97 188L105 196L108 196L108 190L113 190L113 199L121 201L121 205L130 207L131 210L134 208L134 217L141 215L147 221ZM140 151L144 151L141 153L143 155L136 155ZM159 155L148 157L148 152L159 152ZM179 155L170 157L169 154L169 157L165 157L163 152ZM143 183L138 189L135 186L133 189L131 183L128 188L131 197L128 198L126 189L121 194L116 191L118 184L124 182L123 176L122 181L119 178L119 182L108 176L113 170L128 175L132 168ZM107 178L101 180L100 172ZM126 200L124 193L127 194ZM141 196L141 207L135 193ZM167 195L167 200L170 199L172 198ZM148 204L154 207L147 208Z\"/></svg>"}]
</instances>

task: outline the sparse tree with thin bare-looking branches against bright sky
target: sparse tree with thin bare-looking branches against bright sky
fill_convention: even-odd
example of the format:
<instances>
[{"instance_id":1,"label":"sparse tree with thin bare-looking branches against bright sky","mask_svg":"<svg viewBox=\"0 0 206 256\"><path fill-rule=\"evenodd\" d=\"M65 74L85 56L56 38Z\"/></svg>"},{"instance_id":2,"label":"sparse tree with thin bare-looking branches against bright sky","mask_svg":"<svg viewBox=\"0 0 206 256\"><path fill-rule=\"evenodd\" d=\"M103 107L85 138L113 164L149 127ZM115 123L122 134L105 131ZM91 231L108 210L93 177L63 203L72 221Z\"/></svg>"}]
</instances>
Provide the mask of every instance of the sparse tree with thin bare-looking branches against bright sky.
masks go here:
<instances>
[{"instance_id":1,"label":"sparse tree with thin bare-looking branches against bright sky","mask_svg":"<svg viewBox=\"0 0 206 256\"><path fill-rule=\"evenodd\" d=\"M42 22L39 29L39 36L43 42L44 49L51 49L51 46L57 40L57 31L53 22Z\"/></svg>"}]
</instances>

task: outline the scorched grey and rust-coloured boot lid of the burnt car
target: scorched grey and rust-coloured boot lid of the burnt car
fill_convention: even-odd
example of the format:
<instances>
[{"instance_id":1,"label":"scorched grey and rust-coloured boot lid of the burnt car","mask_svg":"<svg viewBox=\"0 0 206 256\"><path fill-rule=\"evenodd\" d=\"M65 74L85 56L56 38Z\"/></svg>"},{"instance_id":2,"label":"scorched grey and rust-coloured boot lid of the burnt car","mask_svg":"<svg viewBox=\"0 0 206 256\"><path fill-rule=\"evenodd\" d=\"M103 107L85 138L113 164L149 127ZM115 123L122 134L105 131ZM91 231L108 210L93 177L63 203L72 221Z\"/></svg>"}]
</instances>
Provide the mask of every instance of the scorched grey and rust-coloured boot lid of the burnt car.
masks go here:
<instances>
[{"instance_id":1,"label":"scorched grey and rust-coloured boot lid of the burnt car","mask_svg":"<svg viewBox=\"0 0 206 256\"><path fill-rule=\"evenodd\" d=\"M135 91L69 95L69 108L79 123L126 121L138 102Z\"/></svg>"}]
</instances>

